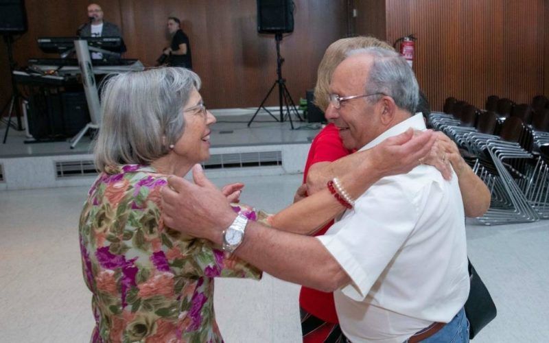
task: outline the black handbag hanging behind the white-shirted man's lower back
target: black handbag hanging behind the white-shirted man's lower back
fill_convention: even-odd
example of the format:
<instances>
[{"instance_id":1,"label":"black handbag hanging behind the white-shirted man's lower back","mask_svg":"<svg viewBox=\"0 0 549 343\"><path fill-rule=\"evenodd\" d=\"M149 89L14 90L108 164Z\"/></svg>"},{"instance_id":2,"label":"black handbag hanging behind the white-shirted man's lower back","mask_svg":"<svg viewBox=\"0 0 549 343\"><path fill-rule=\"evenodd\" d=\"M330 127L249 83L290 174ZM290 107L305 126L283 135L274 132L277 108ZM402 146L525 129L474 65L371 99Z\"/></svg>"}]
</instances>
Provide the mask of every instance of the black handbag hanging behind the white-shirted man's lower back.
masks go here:
<instances>
[{"instance_id":1,"label":"black handbag hanging behind the white-shirted man's lower back","mask_svg":"<svg viewBox=\"0 0 549 343\"><path fill-rule=\"evenodd\" d=\"M495 318L497 310L488 289L476 273L471 261L469 261L469 279L471 290L465 303L465 315L469 320L469 340L472 340L478 335L478 331Z\"/></svg>"}]
</instances>

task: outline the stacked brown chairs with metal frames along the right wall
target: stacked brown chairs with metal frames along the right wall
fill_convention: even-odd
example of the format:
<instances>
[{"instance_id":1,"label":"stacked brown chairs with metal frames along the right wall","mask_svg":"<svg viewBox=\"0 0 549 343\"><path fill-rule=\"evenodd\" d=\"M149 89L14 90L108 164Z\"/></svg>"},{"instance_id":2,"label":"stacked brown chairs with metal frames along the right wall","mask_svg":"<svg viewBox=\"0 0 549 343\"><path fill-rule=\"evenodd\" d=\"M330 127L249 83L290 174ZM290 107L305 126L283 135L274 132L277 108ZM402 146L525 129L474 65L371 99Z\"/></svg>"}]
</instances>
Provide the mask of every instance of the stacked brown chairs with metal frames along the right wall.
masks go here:
<instances>
[{"instance_id":1,"label":"stacked brown chairs with metal frames along the right wall","mask_svg":"<svg viewBox=\"0 0 549 343\"><path fill-rule=\"evenodd\" d=\"M481 223L549 219L548 104L541 97L515 104L491 95L479 110L449 97L444 113L430 115L429 125L456 142L491 191L490 209L477 218Z\"/></svg>"}]
</instances>

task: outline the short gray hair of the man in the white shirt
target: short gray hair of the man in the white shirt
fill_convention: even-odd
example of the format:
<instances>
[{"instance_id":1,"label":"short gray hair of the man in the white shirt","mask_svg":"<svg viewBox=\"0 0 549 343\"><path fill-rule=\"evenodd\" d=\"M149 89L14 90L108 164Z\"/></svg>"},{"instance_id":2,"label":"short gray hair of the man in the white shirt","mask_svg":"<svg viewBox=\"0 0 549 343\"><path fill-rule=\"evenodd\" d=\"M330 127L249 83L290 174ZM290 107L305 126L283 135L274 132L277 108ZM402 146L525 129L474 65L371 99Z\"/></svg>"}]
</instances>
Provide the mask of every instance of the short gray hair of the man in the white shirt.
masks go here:
<instances>
[{"instance_id":1,"label":"short gray hair of the man in the white shirt","mask_svg":"<svg viewBox=\"0 0 549 343\"><path fill-rule=\"evenodd\" d=\"M373 57L364 94L384 93L395 100L399 108L415 113L419 102L419 86L414 71L397 52L379 47L354 49L347 57L368 54ZM383 95L368 97L366 101L377 102Z\"/></svg>"}]
</instances>

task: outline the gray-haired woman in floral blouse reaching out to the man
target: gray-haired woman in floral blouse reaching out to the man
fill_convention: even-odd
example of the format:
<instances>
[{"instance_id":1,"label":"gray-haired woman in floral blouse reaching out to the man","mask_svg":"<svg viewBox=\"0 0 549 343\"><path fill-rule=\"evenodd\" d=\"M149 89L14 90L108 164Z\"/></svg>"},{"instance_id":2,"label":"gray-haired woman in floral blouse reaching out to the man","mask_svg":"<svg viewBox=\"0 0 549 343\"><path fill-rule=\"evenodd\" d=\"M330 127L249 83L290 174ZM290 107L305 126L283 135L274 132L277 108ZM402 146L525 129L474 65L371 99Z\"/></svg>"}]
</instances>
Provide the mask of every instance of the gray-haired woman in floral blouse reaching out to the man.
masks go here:
<instances>
[{"instance_id":1,"label":"gray-haired woman in floral blouse reaching out to the man","mask_svg":"<svg viewBox=\"0 0 549 343\"><path fill-rule=\"evenodd\" d=\"M230 241L215 246L163 222L160 190L167 178L185 175L209 158L215 117L199 88L198 75L183 68L115 75L103 88L95 145L100 175L79 230L84 281L93 294L92 342L222 342L213 278L261 277L253 265L231 255ZM410 170L432 143L430 132L413 138L408 132L353 154L341 185L356 196L382 176ZM242 187L224 187L226 201L237 201ZM244 220L257 220L253 209L231 206ZM268 217L268 223L305 232L343 209L333 194L318 192Z\"/></svg>"}]
</instances>

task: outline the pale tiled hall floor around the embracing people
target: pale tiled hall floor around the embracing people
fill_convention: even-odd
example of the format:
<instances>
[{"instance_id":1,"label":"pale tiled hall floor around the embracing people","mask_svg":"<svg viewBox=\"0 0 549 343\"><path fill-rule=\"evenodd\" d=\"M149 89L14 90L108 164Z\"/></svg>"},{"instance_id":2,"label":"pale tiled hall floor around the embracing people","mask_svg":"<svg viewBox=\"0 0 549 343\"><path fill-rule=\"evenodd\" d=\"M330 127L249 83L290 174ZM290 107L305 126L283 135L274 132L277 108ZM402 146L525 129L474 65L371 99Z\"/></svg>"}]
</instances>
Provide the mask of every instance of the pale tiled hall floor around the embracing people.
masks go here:
<instances>
[{"instance_id":1,"label":"pale tiled hall floor around the embracing people","mask_svg":"<svg viewBox=\"0 0 549 343\"><path fill-rule=\"evenodd\" d=\"M301 175L241 181L242 202L278 211L291 201ZM93 318L77 239L86 191L0 192L0 342L89 341ZM498 305L498 317L474 342L547 342L549 221L469 224L467 235L469 257ZM268 275L260 282L216 281L215 307L226 342L300 342L298 292L297 285Z\"/></svg>"}]
</instances>

